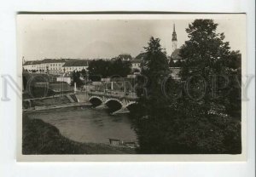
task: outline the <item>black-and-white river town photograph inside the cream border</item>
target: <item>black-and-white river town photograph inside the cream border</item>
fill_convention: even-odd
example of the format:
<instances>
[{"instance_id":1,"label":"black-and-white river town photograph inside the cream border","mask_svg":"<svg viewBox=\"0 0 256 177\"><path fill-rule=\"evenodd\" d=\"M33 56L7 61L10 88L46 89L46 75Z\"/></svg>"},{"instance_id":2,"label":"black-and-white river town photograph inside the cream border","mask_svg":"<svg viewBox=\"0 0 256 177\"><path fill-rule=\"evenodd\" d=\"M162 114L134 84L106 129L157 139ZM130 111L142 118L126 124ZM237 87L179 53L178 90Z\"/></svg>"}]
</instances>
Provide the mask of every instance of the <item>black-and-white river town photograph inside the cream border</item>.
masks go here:
<instances>
[{"instance_id":1,"label":"black-and-white river town photograph inside the cream border","mask_svg":"<svg viewBox=\"0 0 256 177\"><path fill-rule=\"evenodd\" d=\"M245 14L17 16L22 155L246 149Z\"/></svg>"}]
</instances>

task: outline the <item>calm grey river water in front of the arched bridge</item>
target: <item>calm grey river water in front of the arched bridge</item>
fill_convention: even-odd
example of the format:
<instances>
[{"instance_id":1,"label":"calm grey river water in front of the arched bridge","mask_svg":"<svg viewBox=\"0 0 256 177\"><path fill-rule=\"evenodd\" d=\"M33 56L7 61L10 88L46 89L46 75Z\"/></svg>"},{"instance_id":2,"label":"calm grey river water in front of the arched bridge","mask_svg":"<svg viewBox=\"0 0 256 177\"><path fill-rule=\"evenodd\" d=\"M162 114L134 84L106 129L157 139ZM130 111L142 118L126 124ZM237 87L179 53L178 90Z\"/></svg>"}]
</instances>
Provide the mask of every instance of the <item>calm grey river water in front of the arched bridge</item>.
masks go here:
<instances>
[{"instance_id":1,"label":"calm grey river water in front of the arched bridge","mask_svg":"<svg viewBox=\"0 0 256 177\"><path fill-rule=\"evenodd\" d=\"M127 114L109 115L106 110L90 107L70 107L27 114L50 123L70 140L79 142L108 143L108 138L137 140Z\"/></svg>"}]
</instances>

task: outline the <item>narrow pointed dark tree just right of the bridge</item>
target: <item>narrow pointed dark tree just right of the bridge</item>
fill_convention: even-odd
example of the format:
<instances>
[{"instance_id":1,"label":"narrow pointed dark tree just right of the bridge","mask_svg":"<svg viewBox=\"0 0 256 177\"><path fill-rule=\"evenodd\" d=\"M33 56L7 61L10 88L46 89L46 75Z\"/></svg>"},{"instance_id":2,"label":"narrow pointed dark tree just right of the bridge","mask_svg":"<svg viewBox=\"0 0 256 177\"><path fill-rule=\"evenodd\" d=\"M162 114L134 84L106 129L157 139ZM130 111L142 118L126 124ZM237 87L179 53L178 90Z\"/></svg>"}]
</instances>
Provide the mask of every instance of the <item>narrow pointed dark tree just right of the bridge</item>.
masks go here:
<instances>
[{"instance_id":1,"label":"narrow pointed dark tree just right of the bridge","mask_svg":"<svg viewBox=\"0 0 256 177\"><path fill-rule=\"evenodd\" d=\"M162 83L170 74L166 53L160 39L151 37L143 57L142 76L137 78L136 131L140 153L164 153L166 129L169 125L169 100L162 92ZM172 78L171 78L172 79Z\"/></svg>"}]
</instances>

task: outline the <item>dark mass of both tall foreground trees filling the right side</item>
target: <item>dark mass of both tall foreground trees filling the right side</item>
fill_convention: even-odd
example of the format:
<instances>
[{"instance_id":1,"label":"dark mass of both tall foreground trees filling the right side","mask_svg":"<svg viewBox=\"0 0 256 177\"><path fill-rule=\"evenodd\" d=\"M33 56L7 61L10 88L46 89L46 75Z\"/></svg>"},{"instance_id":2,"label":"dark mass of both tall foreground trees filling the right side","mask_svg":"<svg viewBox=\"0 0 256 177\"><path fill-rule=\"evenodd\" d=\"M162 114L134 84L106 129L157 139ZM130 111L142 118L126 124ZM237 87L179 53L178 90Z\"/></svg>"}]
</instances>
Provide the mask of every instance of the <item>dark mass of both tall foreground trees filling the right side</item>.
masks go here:
<instances>
[{"instance_id":1,"label":"dark mass of both tall foreground trees filling the right side","mask_svg":"<svg viewBox=\"0 0 256 177\"><path fill-rule=\"evenodd\" d=\"M241 55L230 51L217 26L213 20L195 20L186 29L189 40L181 49L182 82L167 77L160 39L150 39L142 72L147 82L140 78L137 87L135 127L140 153L241 153L241 119L228 111L235 106L241 111L236 100L241 93L236 88Z\"/></svg>"}]
</instances>

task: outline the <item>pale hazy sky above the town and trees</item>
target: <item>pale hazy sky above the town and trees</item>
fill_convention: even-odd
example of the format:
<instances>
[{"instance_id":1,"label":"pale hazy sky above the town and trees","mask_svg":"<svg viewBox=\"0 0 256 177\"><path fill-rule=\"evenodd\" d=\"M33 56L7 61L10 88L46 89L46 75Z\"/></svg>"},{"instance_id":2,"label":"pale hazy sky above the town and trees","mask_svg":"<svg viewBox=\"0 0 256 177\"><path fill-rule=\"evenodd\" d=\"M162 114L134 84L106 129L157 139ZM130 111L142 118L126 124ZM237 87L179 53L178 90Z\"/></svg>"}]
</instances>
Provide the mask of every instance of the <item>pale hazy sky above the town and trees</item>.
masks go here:
<instances>
[{"instance_id":1,"label":"pale hazy sky above the town and trees","mask_svg":"<svg viewBox=\"0 0 256 177\"><path fill-rule=\"evenodd\" d=\"M159 37L168 55L172 54L173 24L177 47L188 40L185 29L195 19L185 20L88 20L24 18L18 21L21 55L25 60L44 58L113 58L119 54L137 56L144 51L150 37ZM241 49L244 33L241 21L228 18L214 20L218 32L233 50Z\"/></svg>"}]
</instances>

